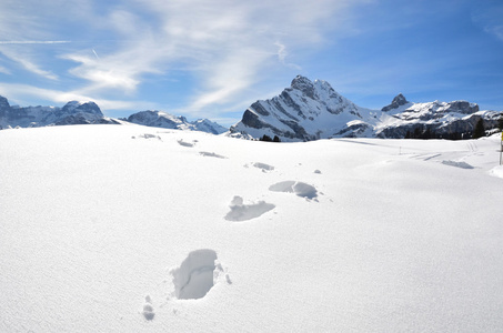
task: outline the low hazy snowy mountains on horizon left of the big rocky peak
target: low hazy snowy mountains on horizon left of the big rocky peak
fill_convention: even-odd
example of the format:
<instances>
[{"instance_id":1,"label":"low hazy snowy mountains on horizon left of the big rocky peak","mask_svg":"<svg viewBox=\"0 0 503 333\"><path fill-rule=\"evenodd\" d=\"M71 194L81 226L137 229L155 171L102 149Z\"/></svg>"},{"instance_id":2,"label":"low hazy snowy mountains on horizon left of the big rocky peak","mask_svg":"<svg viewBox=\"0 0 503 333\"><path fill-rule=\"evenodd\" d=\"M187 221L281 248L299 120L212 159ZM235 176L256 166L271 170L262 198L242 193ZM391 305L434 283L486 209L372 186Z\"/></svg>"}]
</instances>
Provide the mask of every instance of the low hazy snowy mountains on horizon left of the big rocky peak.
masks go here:
<instances>
[{"instance_id":1,"label":"low hazy snowy mountains on horizon left of the big rocky peak","mask_svg":"<svg viewBox=\"0 0 503 333\"><path fill-rule=\"evenodd\" d=\"M94 102L68 102L64 107L11 107L4 97L0 97L0 130L8 128L38 128L67 124L120 124L122 120L104 117ZM147 127L202 131L221 134L228 129L208 119L188 121L162 111L141 111L131 114L125 121Z\"/></svg>"}]
</instances>

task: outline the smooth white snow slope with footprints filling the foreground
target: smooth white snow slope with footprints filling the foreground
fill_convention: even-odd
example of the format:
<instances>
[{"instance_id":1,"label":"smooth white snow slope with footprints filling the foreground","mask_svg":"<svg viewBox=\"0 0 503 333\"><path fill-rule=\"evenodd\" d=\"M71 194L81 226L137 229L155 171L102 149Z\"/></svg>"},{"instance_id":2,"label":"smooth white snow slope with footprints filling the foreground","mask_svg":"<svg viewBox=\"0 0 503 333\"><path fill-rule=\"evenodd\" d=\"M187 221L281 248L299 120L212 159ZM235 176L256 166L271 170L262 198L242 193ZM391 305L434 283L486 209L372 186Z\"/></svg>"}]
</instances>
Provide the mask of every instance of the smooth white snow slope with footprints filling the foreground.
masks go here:
<instances>
[{"instance_id":1,"label":"smooth white snow slope with footprints filling the foreground","mask_svg":"<svg viewBox=\"0 0 503 333\"><path fill-rule=\"evenodd\" d=\"M499 147L0 131L0 332L501 332Z\"/></svg>"}]
</instances>

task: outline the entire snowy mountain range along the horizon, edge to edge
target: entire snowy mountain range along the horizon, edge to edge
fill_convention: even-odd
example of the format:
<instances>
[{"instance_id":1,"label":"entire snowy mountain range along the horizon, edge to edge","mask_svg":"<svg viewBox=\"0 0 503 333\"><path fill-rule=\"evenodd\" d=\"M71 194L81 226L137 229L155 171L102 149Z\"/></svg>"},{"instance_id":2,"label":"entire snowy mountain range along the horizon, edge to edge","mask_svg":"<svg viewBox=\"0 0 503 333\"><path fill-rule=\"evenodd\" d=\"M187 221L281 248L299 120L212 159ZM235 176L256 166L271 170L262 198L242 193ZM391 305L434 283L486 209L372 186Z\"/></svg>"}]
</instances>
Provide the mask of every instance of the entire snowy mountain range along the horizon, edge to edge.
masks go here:
<instances>
[{"instance_id":1,"label":"entire snowy mountain range along the horizon, edge to edge","mask_svg":"<svg viewBox=\"0 0 503 333\"><path fill-rule=\"evenodd\" d=\"M164 129L203 131L247 139L278 137L281 141L330 138L470 139L481 120L495 129L500 111L481 111L466 101L413 103L400 93L381 110L359 107L323 80L298 75L290 88L269 100L251 104L230 130L208 119L188 121L163 111L141 111L127 119L107 118L94 102L68 102L64 107L11 107L0 97L0 129L123 121Z\"/></svg>"}]
</instances>

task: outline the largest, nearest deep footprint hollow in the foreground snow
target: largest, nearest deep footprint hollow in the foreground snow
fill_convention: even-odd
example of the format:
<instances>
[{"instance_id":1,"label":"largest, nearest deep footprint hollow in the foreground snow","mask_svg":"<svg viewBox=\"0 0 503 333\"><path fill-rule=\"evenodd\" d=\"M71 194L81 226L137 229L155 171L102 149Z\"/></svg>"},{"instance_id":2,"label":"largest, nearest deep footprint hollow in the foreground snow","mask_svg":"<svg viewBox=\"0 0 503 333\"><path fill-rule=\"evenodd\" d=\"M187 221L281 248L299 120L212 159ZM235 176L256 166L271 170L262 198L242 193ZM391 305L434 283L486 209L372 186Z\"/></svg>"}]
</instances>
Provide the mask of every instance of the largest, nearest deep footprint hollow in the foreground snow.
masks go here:
<instances>
[{"instance_id":1,"label":"largest, nearest deep footprint hollow in the foreground snow","mask_svg":"<svg viewBox=\"0 0 503 333\"><path fill-rule=\"evenodd\" d=\"M199 300L213 286L217 252L202 249L192 251L180 268L171 271L174 295L179 300Z\"/></svg>"}]
</instances>

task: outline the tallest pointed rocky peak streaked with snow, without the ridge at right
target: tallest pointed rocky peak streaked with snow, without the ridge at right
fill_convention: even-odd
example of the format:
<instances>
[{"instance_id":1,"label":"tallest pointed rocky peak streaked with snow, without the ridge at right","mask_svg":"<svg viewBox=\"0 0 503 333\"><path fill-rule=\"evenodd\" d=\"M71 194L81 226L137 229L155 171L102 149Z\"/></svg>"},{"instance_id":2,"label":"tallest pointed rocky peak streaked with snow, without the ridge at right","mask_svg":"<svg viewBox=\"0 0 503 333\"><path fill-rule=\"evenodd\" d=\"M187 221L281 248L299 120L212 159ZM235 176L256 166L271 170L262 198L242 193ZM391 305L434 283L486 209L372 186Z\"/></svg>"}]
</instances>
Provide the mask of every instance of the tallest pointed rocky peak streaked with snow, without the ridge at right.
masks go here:
<instances>
[{"instance_id":1,"label":"tallest pointed rocky peak streaked with snow, without the ridge at right","mask_svg":"<svg viewBox=\"0 0 503 333\"><path fill-rule=\"evenodd\" d=\"M328 82L298 75L280 95L251 104L231 133L278 135L282 141L365 135L370 127L362 113L368 110L340 95Z\"/></svg>"}]
</instances>

